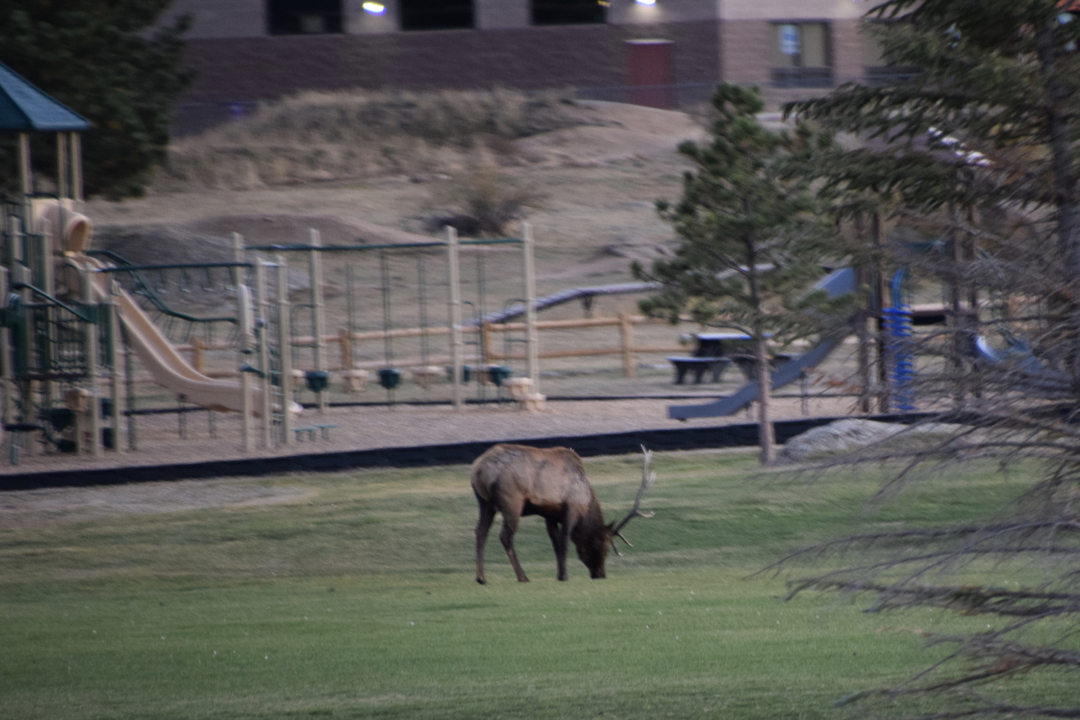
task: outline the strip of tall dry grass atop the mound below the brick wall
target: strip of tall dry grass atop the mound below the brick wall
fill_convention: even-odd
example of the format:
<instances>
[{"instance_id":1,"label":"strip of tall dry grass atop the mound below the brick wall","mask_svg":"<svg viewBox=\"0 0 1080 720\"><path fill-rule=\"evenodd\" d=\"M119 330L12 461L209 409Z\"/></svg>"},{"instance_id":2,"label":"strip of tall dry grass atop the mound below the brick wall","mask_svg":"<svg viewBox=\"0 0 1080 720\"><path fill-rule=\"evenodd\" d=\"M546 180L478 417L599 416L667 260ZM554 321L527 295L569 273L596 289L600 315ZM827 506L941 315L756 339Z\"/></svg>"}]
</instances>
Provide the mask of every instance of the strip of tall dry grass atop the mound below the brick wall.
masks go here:
<instances>
[{"instance_id":1,"label":"strip of tall dry grass atop the mound below the brick wall","mask_svg":"<svg viewBox=\"0 0 1080 720\"><path fill-rule=\"evenodd\" d=\"M302 92L177 140L161 190L251 189L387 174L459 172L489 149L513 162L513 140L580 124L569 95L503 89L434 93Z\"/></svg>"}]
</instances>

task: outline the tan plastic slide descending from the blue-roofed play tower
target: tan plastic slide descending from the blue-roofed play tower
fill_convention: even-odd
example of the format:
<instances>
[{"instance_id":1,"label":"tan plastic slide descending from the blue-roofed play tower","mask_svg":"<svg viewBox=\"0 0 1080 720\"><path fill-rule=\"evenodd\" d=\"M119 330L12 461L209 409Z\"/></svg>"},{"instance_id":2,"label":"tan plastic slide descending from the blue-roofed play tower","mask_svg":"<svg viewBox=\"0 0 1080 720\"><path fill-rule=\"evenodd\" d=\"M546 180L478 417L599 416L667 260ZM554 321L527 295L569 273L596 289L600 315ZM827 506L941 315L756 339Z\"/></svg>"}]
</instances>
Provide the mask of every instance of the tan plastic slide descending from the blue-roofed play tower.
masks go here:
<instances>
[{"instance_id":1,"label":"tan plastic slide descending from the blue-roofed play tower","mask_svg":"<svg viewBox=\"0 0 1080 720\"><path fill-rule=\"evenodd\" d=\"M80 258L80 261L92 270L102 268L93 258ZM184 395L186 402L208 410L243 411L243 392L239 382L215 380L195 370L127 293L118 287L116 295L109 294L108 274L92 272L91 275L97 298L117 304L132 348L156 383L177 395ZM253 415L259 413L259 408L262 407L261 388L252 388L251 407ZM291 409L297 412L299 408L294 403Z\"/></svg>"}]
</instances>

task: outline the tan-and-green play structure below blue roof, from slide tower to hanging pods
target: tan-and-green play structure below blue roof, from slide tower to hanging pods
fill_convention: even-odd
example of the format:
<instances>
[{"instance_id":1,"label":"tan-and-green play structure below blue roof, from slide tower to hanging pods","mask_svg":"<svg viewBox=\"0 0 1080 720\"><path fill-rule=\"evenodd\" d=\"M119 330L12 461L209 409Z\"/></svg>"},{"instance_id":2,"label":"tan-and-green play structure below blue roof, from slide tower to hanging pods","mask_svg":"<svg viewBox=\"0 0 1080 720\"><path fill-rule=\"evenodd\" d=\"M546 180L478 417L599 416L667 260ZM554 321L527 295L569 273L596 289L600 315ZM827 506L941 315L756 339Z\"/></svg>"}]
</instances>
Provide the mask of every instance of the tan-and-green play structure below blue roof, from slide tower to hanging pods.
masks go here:
<instances>
[{"instance_id":1,"label":"tan-and-green play structure below blue roof, from slide tower to hanging pods","mask_svg":"<svg viewBox=\"0 0 1080 720\"><path fill-rule=\"evenodd\" d=\"M330 380L325 347L337 339L327 336L325 330L322 255L326 252L345 252L351 258L361 258L365 255L370 257L369 250L380 250L382 335L386 342L386 367L380 372L380 383L392 390L401 380L399 370L392 367L394 330L390 318L396 298L391 298L389 291L391 272L387 257L394 252L407 253L410 247L363 245L343 250L340 247L323 248L318 233L312 232L311 242L306 246L244 248L243 239L237 235L233 239L237 259L232 262L133 266L114 255L91 250L91 222L73 212L70 203L55 198L31 198L22 203L11 203L8 209L4 225L8 230L3 237L5 257L9 258L8 269L12 276L19 279L13 287L22 293L19 300L5 309L4 329L0 330L3 336L0 344L6 342L5 352L12 356L12 362L3 365L3 379L6 388L4 423L15 438L12 440L13 457L16 456L16 446L32 451L33 446L26 446L25 438L35 434L38 439L62 449L75 446L98 453L103 443L122 449L124 444L121 438L126 432L127 447L134 449L134 395L132 369L127 362L131 355L138 358L156 384L177 398L180 409L194 405L215 412L242 413L245 449L252 447L251 430L256 418L262 420L265 446L314 437L310 427L293 424L294 415L299 411L299 406L293 402L293 380L299 378L319 397L318 407L325 408L324 398ZM23 232L24 223L32 232ZM525 240L469 241L465 244L518 244L528 258L522 267L531 260L531 236L527 228ZM445 253L449 268L456 264L459 243L453 232L448 232L445 242L421 245ZM273 252L275 261L267 262L261 256L245 259L248 250ZM311 302L292 302L289 299L285 256L295 252L309 256ZM422 262L420 267L423 267ZM267 287L268 271L275 271L270 283L273 299ZM172 291L178 290L179 294L198 293L200 286L203 291L213 290L216 282L214 274L229 273L228 287L220 289L228 293L227 303L234 303L235 312L200 318L172 309L165 301L170 293L166 280L170 272L177 274ZM447 282L451 314L449 327L428 327L427 300L422 296L420 335L423 352L421 366L419 370L414 368L413 377L417 379L424 369L429 371L429 377L441 372L440 368L427 365L430 363L427 341L436 330L448 334L450 376L458 378L453 383L454 403L462 407L460 379L464 371L464 336L475 330L480 358L484 357L484 348L489 340L478 323L471 327L461 321L461 305L470 303L460 298L460 276L455 277L453 272L450 275ZM422 276L421 272L421 288ZM192 277L199 280L192 281ZM531 284L526 285L526 296L530 297L534 291ZM483 308L483 301L477 304ZM215 307L220 308L220 301L216 301ZM310 310L311 337L297 338L297 317L306 316L306 310ZM151 314L163 322L156 322ZM204 343L198 337L192 339L191 328L198 323L203 323L205 327L213 327L216 323L233 328L228 343L228 348L237 353L238 369L231 372L233 378L206 375L201 369L201 362L186 358L168 337L166 327L187 324L181 337L198 351L199 357L207 348L222 348L212 341ZM526 323L527 336L530 324L535 338L535 313ZM350 353L345 352L362 335L351 328L350 320L350 329L342 330L338 337L342 340L342 383L356 389L357 381L364 381L366 371L354 367L351 350ZM106 352L100 352L98 347ZM124 353L125 347L130 349L130 354ZM312 364L299 363L298 367L295 355L303 348L311 349ZM523 407L536 409L542 407L543 397L535 390L535 341L528 345L526 359L532 368L532 376L518 379L515 394L521 394ZM396 377L388 378L390 372ZM496 375L490 370L488 373L489 377ZM110 390L106 392L106 388ZM106 394L109 395L109 403L103 404L100 400ZM65 399L70 406L66 412L62 411ZM283 412L282 408L288 408L288 411ZM106 411L111 420L103 423L102 413ZM183 434L183 415L180 418ZM327 436L329 426L332 424L328 423L313 425L322 431L323 437Z\"/></svg>"}]
</instances>

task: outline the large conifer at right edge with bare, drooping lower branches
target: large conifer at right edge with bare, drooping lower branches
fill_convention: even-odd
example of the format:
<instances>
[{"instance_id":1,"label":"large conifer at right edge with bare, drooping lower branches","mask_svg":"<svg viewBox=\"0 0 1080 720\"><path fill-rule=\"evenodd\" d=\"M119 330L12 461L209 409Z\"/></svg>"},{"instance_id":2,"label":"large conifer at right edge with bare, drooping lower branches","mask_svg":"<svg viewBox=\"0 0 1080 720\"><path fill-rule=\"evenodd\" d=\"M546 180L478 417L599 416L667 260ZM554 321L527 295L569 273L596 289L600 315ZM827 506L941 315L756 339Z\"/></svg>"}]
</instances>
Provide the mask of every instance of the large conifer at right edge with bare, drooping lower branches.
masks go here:
<instances>
[{"instance_id":1,"label":"large conifer at right edge with bare, drooping lower branches","mask_svg":"<svg viewBox=\"0 0 1080 720\"><path fill-rule=\"evenodd\" d=\"M988 302L971 324L950 303L953 347L983 348L977 385L958 392L948 363L920 370L920 404L943 408L936 419L960 420L961 430L936 447L909 451L893 440L848 460L903 460L890 490L943 478L950 460L987 454L1021 463L1029 478L983 524L847 538L786 560L859 549L859 561L793 581L794 592L870 593L876 611L937 608L986 620L985 629L934 638L953 651L926 673L848 698L881 701L865 708L874 717L1080 717L1075 693L1055 698L1047 690L1059 674L1080 670L1075 4L887 0L870 13L870 29L897 67L918 71L788 109L867 140L832 158L833 184L888 196L903 217L936 227L940 253L897 262L921 263L954 299L977 290ZM1007 347L986 351L995 338ZM923 464L928 472L914 472Z\"/></svg>"}]
</instances>

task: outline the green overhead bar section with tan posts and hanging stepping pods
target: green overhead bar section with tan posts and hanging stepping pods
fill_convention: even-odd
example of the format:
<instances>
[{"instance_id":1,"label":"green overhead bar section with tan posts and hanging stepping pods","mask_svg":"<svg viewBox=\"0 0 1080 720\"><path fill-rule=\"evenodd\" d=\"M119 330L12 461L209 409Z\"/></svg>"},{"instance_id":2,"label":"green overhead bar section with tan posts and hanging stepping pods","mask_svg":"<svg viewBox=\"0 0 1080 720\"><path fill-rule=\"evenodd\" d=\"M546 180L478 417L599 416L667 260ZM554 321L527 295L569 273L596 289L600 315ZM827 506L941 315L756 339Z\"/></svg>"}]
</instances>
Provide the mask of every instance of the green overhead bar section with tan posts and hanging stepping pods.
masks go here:
<instances>
[{"instance_id":1,"label":"green overhead bar section with tan posts and hanging stepping pods","mask_svg":"<svg viewBox=\"0 0 1080 720\"><path fill-rule=\"evenodd\" d=\"M523 308L532 308L536 304L532 237L527 225L523 227L519 239L459 241L453 228L447 228L443 241L336 246L311 242L306 245L253 245L247 250L288 257L307 256L308 264L312 268L316 263L321 267L322 258L332 258L326 261L328 273L325 277L320 275L320 282L311 273L311 288L307 298L309 301L293 305L297 311L292 315L294 362L300 365L307 363L309 367L320 371L340 371L341 384L347 392L357 392L368 378L374 377L387 391L390 402L394 400L394 394L402 388L406 377L427 393L435 380L443 376L444 370L450 384L450 402L458 408L464 406L465 383L474 378L480 381L475 385L477 399L485 399L488 382L496 385L499 392L503 390L501 383L510 378L512 370L491 362L499 354L491 348L490 327L485 322L489 301L487 263L499 263L499 289L503 295L508 291L514 295L514 298L508 300L508 305L517 303ZM471 276L462 273L462 250L475 261ZM521 264L511 267L515 260L514 250L521 253ZM373 254L376 254L375 258L372 258ZM508 264L508 261L511 263ZM433 266L436 268L434 273L430 270ZM432 275L436 277L435 284L445 288L448 298L449 320L444 326L433 325L429 320L429 298L433 295ZM463 280L463 275L468 280ZM516 285L522 276L524 299ZM314 308L325 308L326 302L316 298L315 288L335 286L345 287L345 323L337 335L324 335L325 329L316 327ZM463 287L469 290L468 299L462 297ZM338 302L340 310L340 300ZM368 324L361 327L362 313L357 311L357 307L362 304L380 308L380 323L372 323L374 314L367 313ZM464 317L467 308L471 309L471 318ZM312 309L312 312L306 313L305 309ZM526 317L522 328L525 338L522 342L525 345L526 367L524 378L519 378L515 386L527 386L526 395L539 395L536 311L532 309L524 314ZM403 321L405 316L411 316L415 321ZM407 327L401 327L402 325ZM436 337L448 339L448 352L442 357L435 356L431 349L432 340ZM381 341L381 353L377 356L368 353L361 357L355 343L375 339ZM321 347L334 341L341 347L339 370L330 368L326 353L320 351ZM311 349L310 355L305 355L306 349ZM468 361L469 365L467 349L474 358ZM503 353L503 362L507 358L508 354ZM365 366L363 369L357 367L361 364ZM516 395L513 397L516 399ZM522 405L539 407L538 399L532 398L532 403L522 402Z\"/></svg>"}]
</instances>

